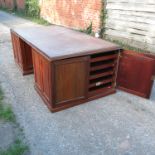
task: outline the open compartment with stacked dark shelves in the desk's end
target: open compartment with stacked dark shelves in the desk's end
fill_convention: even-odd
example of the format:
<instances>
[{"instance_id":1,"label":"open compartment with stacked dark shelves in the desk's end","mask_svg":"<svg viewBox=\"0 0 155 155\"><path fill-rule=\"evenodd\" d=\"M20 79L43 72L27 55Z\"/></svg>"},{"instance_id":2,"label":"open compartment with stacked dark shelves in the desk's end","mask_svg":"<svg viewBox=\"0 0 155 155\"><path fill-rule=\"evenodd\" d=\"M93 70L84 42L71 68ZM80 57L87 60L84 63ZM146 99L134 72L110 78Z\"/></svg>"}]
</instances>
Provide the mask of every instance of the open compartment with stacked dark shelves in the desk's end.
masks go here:
<instances>
[{"instance_id":1,"label":"open compartment with stacked dark shelves in the desk's end","mask_svg":"<svg viewBox=\"0 0 155 155\"><path fill-rule=\"evenodd\" d=\"M119 51L93 54L90 57L89 96L115 87Z\"/></svg>"}]
</instances>

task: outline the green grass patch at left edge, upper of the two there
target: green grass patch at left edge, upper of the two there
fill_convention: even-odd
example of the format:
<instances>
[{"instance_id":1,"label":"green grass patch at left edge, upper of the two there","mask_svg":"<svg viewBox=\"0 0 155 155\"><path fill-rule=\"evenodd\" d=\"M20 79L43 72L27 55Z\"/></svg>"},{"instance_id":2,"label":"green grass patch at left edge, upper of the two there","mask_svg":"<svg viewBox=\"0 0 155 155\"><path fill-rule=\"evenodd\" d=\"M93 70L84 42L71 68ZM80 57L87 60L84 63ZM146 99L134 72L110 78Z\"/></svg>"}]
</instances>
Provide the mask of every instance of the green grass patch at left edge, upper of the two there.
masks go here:
<instances>
[{"instance_id":1,"label":"green grass patch at left edge, upper of the two there","mask_svg":"<svg viewBox=\"0 0 155 155\"><path fill-rule=\"evenodd\" d=\"M5 121L15 122L15 115L11 109L11 106L4 103L4 94L0 88L0 119Z\"/></svg>"}]
</instances>

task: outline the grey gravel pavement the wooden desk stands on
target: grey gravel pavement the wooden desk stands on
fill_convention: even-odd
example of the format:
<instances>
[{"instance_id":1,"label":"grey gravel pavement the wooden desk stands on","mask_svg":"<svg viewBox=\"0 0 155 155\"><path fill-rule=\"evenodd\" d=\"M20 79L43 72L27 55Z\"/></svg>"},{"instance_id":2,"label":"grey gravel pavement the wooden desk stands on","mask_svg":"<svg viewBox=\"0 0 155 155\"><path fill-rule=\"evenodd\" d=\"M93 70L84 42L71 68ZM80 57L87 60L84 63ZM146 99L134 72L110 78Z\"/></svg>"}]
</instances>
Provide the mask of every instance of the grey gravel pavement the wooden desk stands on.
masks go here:
<instances>
[{"instance_id":1,"label":"grey gravel pavement the wooden desk stands on","mask_svg":"<svg viewBox=\"0 0 155 155\"><path fill-rule=\"evenodd\" d=\"M0 82L23 127L32 155L154 155L155 86L151 100L118 91L51 113L33 75L14 63L9 28L31 22L0 12Z\"/></svg>"}]
</instances>

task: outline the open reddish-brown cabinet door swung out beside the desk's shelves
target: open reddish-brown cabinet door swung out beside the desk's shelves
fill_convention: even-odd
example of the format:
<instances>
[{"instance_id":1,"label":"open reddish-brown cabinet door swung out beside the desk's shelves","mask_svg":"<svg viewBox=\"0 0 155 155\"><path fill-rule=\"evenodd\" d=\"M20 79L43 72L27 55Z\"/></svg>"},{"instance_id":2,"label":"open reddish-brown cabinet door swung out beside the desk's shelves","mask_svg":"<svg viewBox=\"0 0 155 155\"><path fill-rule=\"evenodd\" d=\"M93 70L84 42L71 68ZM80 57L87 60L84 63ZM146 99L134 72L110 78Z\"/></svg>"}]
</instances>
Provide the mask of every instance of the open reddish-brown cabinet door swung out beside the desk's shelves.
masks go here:
<instances>
[{"instance_id":1,"label":"open reddish-brown cabinet door swung out beside the desk's shelves","mask_svg":"<svg viewBox=\"0 0 155 155\"><path fill-rule=\"evenodd\" d=\"M124 51L119 64L118 88L149 98L154 67L154 59L134 51Z\"/></svg>"}]
</instances>

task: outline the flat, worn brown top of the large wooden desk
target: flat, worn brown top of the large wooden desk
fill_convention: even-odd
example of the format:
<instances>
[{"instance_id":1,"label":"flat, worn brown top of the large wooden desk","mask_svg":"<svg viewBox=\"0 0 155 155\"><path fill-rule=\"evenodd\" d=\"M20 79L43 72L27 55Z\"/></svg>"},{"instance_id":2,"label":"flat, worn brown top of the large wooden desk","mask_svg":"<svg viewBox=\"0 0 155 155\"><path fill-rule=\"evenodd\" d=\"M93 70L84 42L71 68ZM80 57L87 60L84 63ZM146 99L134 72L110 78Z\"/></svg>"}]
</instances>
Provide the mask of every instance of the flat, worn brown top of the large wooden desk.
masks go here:
<instances>
[{"instance_id":1,"label":"flat, worn brown top of the large wooden desk","mask_svg":"<svg viewBox=\"0 0 155 155\"><path fill-rule=\"evenodd\" d=\"M60 26L16 28L11 31L50 60L120 49L116 44Z\"/></svg>"}]
</instances>

